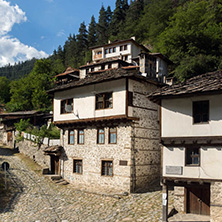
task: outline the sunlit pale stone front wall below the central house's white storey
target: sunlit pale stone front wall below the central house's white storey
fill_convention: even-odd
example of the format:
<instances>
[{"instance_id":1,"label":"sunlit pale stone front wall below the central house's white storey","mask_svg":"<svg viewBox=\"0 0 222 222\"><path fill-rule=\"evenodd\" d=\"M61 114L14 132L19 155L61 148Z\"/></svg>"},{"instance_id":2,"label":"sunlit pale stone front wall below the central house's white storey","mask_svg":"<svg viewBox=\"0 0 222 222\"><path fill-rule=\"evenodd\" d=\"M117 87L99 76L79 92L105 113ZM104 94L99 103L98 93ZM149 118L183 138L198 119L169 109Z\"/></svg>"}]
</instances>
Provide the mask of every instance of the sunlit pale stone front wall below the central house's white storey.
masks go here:
<instances>
[{"instance_id":1,"label":"sunlit pale stone front wall below the central house's white storey","mask_svg":"<svg viewBox=\"0 0 222 222\"><path fill-rule=\"evenodd\" d=\"M101 126L100 126L101 127ZM108 143L108 125L105 129L105 144L97 144L97 126L84 129L84 144L77 144L77 130L74 130L74 145L68 144L68 130L62 135L61 144L65 153L61 157L61 175L74 185L88 186L92 189L114 189L130 191L131 166L131 126L119 123L117 126L117 144ZM73 159L81 159L83 173L73 173ZM113 161L113 176L101 175L101 161ZM126 166L120 160L127 161Z\"/></svg>"}]
</instances>

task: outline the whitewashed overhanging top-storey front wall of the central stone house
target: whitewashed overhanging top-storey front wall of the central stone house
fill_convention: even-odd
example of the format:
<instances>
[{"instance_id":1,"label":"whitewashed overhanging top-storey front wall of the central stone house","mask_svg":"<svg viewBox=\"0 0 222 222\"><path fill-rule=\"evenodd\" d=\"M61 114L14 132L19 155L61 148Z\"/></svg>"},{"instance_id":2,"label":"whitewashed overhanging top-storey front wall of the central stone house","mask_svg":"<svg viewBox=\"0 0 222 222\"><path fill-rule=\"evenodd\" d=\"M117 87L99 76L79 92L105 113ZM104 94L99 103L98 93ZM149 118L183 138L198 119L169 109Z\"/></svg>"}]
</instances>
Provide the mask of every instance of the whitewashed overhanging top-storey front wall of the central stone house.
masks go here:
<instances>
[{"instance_id":1,"label":"whitewashed overhanging top-storey front wall of the central stone house","mask_svg":"<svg viewBox=\"0 0 222 222\"><path fill-rule=\"evenodd\" d=\"M95 94L113 92L113 108L95 109ZM74 113L60 114L61 100L74 98ZM126 87L125 80L115 80L95 85L56 92L54 95L54 121L77 120L114 115L125 115ZM78 117L77 117L78 114Z\"/></svg>"}]
</instances>

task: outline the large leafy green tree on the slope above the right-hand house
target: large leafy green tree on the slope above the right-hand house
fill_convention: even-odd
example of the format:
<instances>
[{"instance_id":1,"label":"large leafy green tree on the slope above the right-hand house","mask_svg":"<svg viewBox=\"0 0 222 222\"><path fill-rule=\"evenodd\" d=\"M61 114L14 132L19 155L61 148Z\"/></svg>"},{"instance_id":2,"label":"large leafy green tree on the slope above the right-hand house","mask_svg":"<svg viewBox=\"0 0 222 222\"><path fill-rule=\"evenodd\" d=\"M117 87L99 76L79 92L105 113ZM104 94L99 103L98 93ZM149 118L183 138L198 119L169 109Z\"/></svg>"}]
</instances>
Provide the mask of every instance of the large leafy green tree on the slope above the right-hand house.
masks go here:
<instances>
[{"instance_id":1,"label":"large leafy green tree on the slope above the right-hand house","mask_svg":"<svg viewBox=\"0 0 222 222\"><path fill-rule=\"evenodd\" d=\"M222 57L222 29L214 0L190 1L179 6L169 26L159 36L158 48L175 63L175 74L184 80L214 71Z\"/></svg>"}]
</instances>

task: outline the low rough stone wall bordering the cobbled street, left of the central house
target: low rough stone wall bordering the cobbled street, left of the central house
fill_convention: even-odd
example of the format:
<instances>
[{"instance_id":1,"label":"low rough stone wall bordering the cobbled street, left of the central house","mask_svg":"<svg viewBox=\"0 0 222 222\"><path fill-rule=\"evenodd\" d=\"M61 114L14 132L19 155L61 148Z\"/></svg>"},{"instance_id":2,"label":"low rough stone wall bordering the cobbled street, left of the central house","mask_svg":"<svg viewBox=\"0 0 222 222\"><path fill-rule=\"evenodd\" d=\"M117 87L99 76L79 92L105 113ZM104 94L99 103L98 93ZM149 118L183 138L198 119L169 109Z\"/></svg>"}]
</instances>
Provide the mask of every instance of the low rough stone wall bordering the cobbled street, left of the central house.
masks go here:
<instances>
[{"instance_id":1,"label":"low rough stone wall bordering the cobbled street, left of the central house","mask_svg":"<svg viewBox=\"0 0 222 222\"><path fill-rule=\"evenodd\" d=\"M47 145L42 145L40 148L38 145L30 140L23 140L16 143L19 148L20 153L33 159L36 163L44 168L50 167L50 156L44 155L43 150L48 147Z\"/></svg>"}]
</instances>

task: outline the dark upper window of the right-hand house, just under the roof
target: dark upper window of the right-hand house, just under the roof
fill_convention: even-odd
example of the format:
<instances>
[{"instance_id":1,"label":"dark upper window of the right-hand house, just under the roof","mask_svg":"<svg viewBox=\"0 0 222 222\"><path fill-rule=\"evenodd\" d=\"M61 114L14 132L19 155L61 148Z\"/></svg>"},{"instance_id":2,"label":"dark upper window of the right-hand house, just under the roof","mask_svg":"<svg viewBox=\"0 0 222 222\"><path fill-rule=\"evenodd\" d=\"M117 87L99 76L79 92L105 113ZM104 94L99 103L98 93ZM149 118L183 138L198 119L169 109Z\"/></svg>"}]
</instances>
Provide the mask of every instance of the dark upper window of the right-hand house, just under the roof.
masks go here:
<instances>
[{"instance_id":1,"label":"dark upper window of the right-hand house, just under the roof","mask_svg":"<svg viewBox=\"0 0 222 222\"><path fill-rule=\"evenodd\" d=\"M207 123L209 121L209 101L193 102L193 123Z\"/></svg>"}]
</instances>

